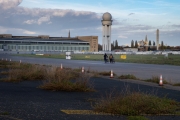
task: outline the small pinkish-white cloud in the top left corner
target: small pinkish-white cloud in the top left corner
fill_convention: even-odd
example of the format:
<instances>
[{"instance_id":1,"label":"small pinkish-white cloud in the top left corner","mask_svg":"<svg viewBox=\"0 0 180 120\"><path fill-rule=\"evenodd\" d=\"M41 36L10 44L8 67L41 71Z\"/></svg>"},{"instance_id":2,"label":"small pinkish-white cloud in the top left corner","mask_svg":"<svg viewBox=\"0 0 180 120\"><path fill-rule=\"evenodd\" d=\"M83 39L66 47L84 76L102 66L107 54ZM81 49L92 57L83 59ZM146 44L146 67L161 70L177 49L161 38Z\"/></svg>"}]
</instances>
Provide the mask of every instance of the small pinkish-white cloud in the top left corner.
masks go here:
<instances>
[{"instance_id":1,"label":"small pinkish-white cloud in the top left corner","mask_svg":"<svg viewBox=\"0 0 180 120\"><path fill-rule=\"evenodd\" d=\"M22 0L0 0L0 9L10 9L17 7Z\"/></svg>"}]
</instances>

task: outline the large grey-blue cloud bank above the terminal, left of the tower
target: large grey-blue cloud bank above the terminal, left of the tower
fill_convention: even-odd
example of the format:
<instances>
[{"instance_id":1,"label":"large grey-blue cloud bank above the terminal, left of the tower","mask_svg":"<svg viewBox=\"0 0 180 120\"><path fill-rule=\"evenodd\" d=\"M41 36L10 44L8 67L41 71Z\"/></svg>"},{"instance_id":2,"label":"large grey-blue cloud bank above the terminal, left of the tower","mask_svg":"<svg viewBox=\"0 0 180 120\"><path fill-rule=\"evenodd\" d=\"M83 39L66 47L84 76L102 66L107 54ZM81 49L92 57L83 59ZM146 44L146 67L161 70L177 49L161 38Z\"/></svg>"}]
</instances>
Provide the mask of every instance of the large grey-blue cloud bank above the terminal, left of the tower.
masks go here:
<instances>
[{"instance_id":1,"label":"large grey-blue cloud bank above the terminal, left of the tower","mask_svg":"<svg viewBox=\"0 0 180 120\"><path fill-rule=\"evenodd\" d=\"M92 28L92 32L101 26L101 18L95 12L70 9L40 9L15 7L0 12L0 26L34 31L54 36L63 35L63 29ZM12 32L17 33L16 32ZM27 32L21 32L27 33ZM92 34L92 33L89 33ZM80 35L80 34L79 34Z\"/></svg>"}]
</instances>

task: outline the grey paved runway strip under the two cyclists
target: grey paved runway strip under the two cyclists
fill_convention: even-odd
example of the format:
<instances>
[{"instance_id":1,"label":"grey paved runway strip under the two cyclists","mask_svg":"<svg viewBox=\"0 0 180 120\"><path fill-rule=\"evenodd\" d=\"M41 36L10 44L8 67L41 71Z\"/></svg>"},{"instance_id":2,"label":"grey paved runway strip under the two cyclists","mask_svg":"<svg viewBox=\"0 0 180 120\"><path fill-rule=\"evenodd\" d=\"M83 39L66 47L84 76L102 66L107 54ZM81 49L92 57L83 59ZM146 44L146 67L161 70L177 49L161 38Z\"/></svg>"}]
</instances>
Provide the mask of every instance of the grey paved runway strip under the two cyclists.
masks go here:
<instances>
[{"instance_id":1,"label":"grey paved runway strip under the two cyclists","mask_svg":"<svg viewBox=\"0 0 180 120\"><path fill-rule=\"evenodd\" d=\"M65 67L81 68L97 70L97 71L110 71L113 70L117 75L133 74L141 79L149 79L152 76L162 75L163 79L172 83L180 83L180 66L173 65L154 65L154 64L137 64L137 63L115 63L105 64L103 61L85 61L85 60L65 60L65 59L51 59L51 58L31 58L12 56L10 54L0 54L0 59L8 59L14 61L22 61L37 64L50 64Z\"/></svg>"}]
</instances>

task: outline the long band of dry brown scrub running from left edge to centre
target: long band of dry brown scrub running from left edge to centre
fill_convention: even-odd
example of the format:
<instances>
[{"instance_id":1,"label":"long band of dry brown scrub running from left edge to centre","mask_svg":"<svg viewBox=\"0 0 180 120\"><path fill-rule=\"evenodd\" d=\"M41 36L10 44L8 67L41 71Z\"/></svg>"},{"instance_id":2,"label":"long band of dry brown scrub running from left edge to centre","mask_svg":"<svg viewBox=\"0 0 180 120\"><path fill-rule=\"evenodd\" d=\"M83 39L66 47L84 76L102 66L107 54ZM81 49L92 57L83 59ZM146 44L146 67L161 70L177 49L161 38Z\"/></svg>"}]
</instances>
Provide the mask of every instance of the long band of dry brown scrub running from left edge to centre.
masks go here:
<instances>
[{"instance_id":1,"label":"long band of dry brown scrub running from left edge to centre","mask_svg":"<svg viewBox=\"0 0 180 120\"><path fill-rule=\"evenodd\" d=\"M0 61L1 68L6 71L1 74L7 75L1 80L6 82L20 82L24 80L43 80L39 86L41 89L54 91L94 91L90 76L81 73L78 69L36 65L29 63L18 63L9 61Z\"/></svg>"}]
</instances>

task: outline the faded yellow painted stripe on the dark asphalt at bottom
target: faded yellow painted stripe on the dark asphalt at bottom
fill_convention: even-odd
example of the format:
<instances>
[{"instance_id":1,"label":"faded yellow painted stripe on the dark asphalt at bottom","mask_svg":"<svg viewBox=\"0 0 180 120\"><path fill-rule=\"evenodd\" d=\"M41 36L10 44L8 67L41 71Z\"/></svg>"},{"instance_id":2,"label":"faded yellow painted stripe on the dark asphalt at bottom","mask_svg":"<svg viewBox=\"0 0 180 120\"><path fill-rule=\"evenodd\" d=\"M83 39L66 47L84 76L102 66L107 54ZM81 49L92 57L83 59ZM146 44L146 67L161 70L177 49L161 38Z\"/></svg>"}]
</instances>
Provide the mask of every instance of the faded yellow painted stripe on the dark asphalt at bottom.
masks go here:
<instances>
[{"instance_id":1,"label":"faded yellow painted stripe on the dark asphalt at bottom","mask_svg":"<svg viewBox=\"0 0 180 120\"><path fill-rule=\"evenodd\" d=\"M80 115L112 115L110 113L99 113L93 110L61 110L66 114L80 114Z\"/></svg>"}]
</instances>

